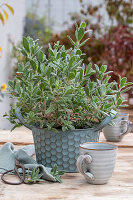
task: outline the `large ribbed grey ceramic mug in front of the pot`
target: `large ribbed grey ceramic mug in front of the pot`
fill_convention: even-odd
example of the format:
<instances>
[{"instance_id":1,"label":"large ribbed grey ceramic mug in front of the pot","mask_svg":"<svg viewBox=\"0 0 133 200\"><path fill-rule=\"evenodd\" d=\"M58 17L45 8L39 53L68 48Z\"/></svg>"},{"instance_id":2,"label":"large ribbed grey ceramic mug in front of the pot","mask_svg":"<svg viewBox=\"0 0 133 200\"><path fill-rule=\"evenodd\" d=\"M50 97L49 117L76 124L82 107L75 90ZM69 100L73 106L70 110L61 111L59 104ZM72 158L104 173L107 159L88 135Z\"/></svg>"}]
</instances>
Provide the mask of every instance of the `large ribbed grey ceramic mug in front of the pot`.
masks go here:
<instances>
[{"instance_id":1,"label":"large ribbed grey ceramic mug in front of the pot","mask_svg":"<svg viewBox=\"0 0 133 200\"><path fill-rule=\"evenodd\" d=\"M80 145L77 159L78 171L90 184L105 184L115 167L117 146L106 143L84 143Z\"/></svg>"}]
</instances>

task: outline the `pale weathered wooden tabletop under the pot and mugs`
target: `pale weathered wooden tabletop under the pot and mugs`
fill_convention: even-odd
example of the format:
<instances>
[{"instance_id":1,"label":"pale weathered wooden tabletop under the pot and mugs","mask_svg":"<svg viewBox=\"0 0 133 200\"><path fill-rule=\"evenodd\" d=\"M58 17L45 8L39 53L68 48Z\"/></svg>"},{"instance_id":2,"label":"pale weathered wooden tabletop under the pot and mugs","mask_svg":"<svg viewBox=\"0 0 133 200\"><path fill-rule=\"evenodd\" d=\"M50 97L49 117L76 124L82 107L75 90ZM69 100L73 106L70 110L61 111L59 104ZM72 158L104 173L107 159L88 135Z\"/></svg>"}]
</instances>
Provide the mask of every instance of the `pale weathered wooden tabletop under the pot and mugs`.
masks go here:
<instances>
[{"instance_id":1,"label":"pale weathered wooden tabletop under the pot and mugs","mask_svg":"<svg viewBox=\"0 0 133 200\"><path fill-rule=\"evenodd\" d=\"M105 142L101 133L100 141ZM0 145L12 142L15 148L32 144L31 131L17 129L0 131ZM86 183L79 173L62 176L63 183L43 182L33 185L6 185L0 180L0 200L133 200L133 133L124 137L118 145L116 167L105 185ZM15 177L10 177L15 179Z\"/></svg>"}]
</instances>

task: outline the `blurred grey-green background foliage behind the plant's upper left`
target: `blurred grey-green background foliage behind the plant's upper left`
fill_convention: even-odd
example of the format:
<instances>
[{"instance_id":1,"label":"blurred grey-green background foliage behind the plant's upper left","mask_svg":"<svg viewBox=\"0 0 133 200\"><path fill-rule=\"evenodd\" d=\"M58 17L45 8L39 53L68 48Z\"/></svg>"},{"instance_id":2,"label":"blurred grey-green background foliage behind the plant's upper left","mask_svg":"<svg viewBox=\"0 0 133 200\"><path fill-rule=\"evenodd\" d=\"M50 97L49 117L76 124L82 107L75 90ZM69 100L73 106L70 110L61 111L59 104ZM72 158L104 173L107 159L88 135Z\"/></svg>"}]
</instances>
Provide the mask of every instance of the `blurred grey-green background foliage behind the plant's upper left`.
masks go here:
<instances>
[{"instance_id":1,"label":"blurred grey-green background foliage behind the plant's upper left","mask_svg":"<svg viewBox=\"0 0 133 200\"><path fill-rule=\"evenodd\" d=\"M40 17L37 13L38 9L38 3L33 4L32 9L30 9L25 16L25 23L24 23L24 32L23 36L27 37L30 36L33 38L33 40L38 40L39 45L43 46L43 49L46 51L46 46L48 41L51 38L52 35L52 29L48 28L46 25L46 17L42 16ZM18 71L17 62L25 62L24 56L26 56L25 50L22 50L22 54L19 51L19 48L22 46L22 43L18 43L17 46L14 44L12 40L10 40L12 44L12 55L11 57L14 59L13 62L13 73L12 76L16 74L16 71ZM24 45L26 44L26 40L23 39ZM27 46L28 48L28 46ZM0 53L1 49L0 49ZM24 56L23 56L24 55ZM16 62L17 61L17 62Z\"/></svg>"}]
</instances>

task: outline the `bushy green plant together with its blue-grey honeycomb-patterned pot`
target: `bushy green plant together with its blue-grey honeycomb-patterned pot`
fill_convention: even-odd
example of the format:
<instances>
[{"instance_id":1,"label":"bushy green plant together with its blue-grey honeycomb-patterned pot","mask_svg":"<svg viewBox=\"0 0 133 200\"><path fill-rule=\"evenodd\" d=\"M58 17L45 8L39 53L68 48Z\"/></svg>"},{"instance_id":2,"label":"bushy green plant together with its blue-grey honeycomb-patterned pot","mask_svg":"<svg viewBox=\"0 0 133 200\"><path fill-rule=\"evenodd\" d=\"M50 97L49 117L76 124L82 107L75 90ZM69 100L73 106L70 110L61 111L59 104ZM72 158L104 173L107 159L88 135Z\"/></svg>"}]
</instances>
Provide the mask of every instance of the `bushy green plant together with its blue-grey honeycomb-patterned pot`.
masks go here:
<instances>
[{"instance_id":1,"label":"bushy green plant together with its blue-grey honeycomb-patterned pot","mask_svg":"<svg viewBox=\"0 0 133 200\"><path fill-rule=\"evenodd\" d=\"M20 51L26 62L18 63L16 77L9 81L17 103L8 119L14 128L24 124L32 130L38 163L48 167L57 163L69 172L76 171L79 145L98 141L99 131L122 106L121 94L130 85L125 77L120 77L120 84L110 83L105 65L85 67L80 47L88 40L83 41L87 33L84 22L76 25L77 41L68 36L73 47L49 44L48 58L37 41L24 37Z\"/></svg>"}]
</instances>

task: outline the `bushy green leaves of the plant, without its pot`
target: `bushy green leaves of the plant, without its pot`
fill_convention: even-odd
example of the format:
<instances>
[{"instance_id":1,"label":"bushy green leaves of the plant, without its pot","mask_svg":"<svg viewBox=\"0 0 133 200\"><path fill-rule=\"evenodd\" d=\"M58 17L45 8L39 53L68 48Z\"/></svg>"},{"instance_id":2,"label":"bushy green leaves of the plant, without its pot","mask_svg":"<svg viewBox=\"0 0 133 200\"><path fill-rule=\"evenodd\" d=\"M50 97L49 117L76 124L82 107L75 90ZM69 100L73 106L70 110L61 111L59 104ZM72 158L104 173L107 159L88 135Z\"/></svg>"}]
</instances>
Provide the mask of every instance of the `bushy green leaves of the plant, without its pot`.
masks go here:
<instances>
[{"instance_id":1,"label":"bushy green leaves of the plant, without its pot","mask_svg":"<svg viewBox=\"0 0 133 200\"><path fill-rule=\"evenodd\" d=\"M59 42L49 44L49 57L37 41L23 39L20 51L25 62L18 64L9 92L29 125L54 131L93 127L125 102L121 93L132 83L126 78L120 78L120 84L109 82L106 65L83 64L80 46L85 34L85 23L76 25L77 40L70 39L74 47L66 50ZM8 118L19 125L14 109Z\"/></svg>"}]
</instances>

